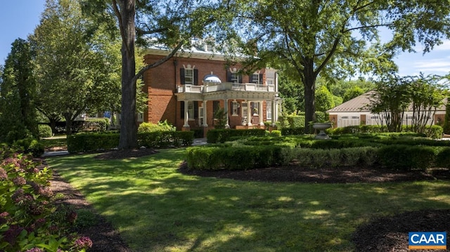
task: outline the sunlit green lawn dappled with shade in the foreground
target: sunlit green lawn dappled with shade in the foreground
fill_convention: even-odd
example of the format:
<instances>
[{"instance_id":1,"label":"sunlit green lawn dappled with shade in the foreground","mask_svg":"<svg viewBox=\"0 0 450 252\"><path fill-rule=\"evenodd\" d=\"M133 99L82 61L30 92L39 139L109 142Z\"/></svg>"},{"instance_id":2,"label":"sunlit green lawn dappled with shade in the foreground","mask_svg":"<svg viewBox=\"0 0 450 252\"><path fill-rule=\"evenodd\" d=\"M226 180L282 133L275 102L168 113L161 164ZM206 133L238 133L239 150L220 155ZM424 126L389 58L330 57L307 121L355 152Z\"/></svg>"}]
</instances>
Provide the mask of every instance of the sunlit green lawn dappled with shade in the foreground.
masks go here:
<instances>
[{"instance_id":1,"label":"sunlit green lawn dappled with shade in the foreground","mask_svg":"<svg viewBox=\"0 0 450 252\"><path fill-rule=\"evenodd\" d=\"M449 181L256 183L178 173L184 149L94 157L47 161L133 251L352 251L352 232L371 218L450 207Z\"/></svg>"}]
</instances>

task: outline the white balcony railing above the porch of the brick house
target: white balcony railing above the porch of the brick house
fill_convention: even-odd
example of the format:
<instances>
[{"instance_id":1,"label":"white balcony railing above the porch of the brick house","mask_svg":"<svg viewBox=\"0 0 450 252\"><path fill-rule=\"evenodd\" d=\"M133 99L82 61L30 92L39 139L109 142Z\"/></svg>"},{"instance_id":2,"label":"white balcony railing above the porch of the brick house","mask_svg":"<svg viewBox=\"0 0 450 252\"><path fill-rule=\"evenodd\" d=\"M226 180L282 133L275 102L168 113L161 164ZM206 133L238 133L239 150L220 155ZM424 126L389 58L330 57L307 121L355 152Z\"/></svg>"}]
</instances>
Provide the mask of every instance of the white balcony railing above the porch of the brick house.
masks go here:
<instances>
[{"instance_id":1,"label":"white balcony railing above the porch of the brick house","mask_svg":"<svg viewBox=\"0 0 450 252\"><path fill-rule=\"evenodd\" d=\"M259 91L259 92L275 92L275 85L259 85L254 83L236 84L225 82L218 85L184 85L178 87L178 93L210 93L215 91Z\"/></svg>"}]
</instances>

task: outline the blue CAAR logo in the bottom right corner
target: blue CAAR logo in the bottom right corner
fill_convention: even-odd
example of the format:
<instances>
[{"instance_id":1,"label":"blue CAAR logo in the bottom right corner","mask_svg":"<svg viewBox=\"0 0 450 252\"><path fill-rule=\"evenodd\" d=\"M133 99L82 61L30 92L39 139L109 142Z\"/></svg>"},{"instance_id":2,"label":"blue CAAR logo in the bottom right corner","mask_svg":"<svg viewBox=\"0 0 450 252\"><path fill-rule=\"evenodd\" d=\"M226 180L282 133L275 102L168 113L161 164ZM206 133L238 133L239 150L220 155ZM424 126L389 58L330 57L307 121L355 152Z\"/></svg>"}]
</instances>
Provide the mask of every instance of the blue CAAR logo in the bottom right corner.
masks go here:
<instances>
[{"instance_id":1,"label":"blue CAAR logo in the bottom right corner","mask_svg":"<svg viewBox=\"0 0 450 252\"><path fill-rule=\"evenodd\" d=\"M409 232L409 249L447 249L446 232Z\"/></svg>"}]
</instances>

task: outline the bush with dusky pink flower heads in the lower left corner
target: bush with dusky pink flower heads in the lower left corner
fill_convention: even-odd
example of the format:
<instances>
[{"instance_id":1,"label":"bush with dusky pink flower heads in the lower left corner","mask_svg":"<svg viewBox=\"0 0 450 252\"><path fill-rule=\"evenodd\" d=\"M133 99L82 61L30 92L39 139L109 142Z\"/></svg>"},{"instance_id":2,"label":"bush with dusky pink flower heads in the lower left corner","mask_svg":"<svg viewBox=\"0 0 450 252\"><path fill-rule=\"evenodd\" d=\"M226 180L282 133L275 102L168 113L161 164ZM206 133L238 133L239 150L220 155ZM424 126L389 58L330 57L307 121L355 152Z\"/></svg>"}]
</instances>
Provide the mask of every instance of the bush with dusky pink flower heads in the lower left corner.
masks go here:
<instances>
[{"instance_id":1,"label":"bush with dusky pink flower heads in the lower left corner","mask_svg":"<svg viewBox=\"0 0 450 252\"><path fill-rule=\"evenodd\" d=\"M77 213L53 201L51 171L0 146L0 251L86 251L89 237L70 234Z\"/></svg>"}]
</instances>

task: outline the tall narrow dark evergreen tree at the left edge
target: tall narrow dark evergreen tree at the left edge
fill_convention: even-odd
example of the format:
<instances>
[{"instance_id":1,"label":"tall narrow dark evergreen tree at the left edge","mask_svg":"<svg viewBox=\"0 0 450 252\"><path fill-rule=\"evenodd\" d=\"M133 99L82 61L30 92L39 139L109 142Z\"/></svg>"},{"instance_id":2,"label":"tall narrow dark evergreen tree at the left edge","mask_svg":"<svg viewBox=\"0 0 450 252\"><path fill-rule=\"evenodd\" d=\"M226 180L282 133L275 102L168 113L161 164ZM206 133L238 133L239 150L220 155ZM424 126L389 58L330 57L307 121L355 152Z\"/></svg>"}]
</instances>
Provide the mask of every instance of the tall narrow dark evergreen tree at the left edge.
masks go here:
<instances>
[{"instance_id":1,"label":"tall narrow dark evergreen tree at the left edge","mask_svg":"<svg viewBox=\"0 0 450 252\"><path fill-rule=\"evenodd\" d=\"M38 138L34 98L32 51L24 39L16 39L6 58L0 82L0 140Z\"/></svg>"}]
</instances>

